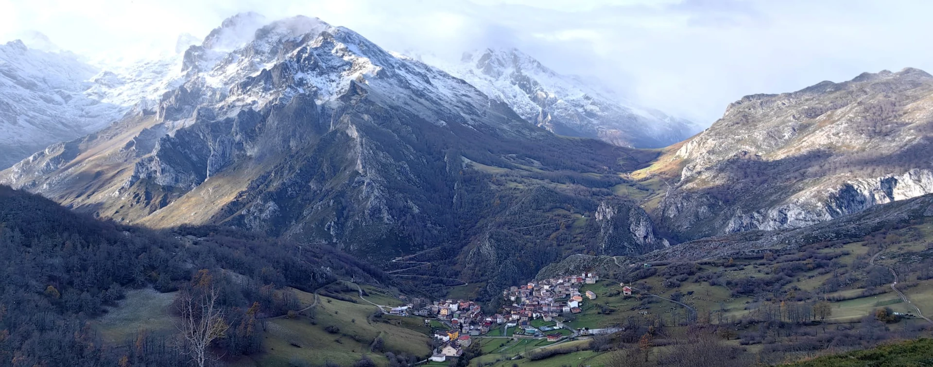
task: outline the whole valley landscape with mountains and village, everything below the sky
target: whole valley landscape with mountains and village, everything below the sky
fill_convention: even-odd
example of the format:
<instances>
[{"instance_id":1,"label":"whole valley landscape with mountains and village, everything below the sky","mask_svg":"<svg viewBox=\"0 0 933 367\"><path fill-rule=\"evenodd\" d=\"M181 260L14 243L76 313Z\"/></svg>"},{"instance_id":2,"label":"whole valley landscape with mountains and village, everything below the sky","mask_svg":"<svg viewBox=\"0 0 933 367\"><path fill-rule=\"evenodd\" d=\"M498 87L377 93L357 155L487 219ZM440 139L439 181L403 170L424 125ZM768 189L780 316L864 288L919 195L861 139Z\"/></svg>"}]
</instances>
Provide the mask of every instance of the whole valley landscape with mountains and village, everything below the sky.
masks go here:
<instances>
[{"instance_id":1,"label":"whole valley landscape with mountains and village, everything below the sky","mask_svg":"<svg viewBox=\"0 0 933 367\"><path fill-rule=\"evenodd\" d=\"M919 69L697 132L518 48L305 16L157 59L0 46L0 367L933 358Z\"/></svg>"}]
</instances>

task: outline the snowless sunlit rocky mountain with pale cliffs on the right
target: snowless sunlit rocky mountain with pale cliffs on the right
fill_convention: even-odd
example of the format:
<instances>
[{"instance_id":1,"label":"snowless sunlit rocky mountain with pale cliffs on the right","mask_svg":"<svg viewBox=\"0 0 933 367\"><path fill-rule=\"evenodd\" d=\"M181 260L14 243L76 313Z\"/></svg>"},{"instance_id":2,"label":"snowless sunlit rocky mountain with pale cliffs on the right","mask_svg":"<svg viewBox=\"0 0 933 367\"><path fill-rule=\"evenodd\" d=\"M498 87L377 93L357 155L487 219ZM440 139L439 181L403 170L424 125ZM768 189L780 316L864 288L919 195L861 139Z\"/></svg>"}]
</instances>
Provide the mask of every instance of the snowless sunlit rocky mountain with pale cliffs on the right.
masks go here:
<instances>
[{"instance_id":1,"label":"snowless sunlit rocky mountain with pale cliffs on the right","mask_svg":"<svg viewBox=\"0 0 933 367\"><path fill-rule=\"evenodd\" d=\"M654 211L679 239L800 228L933 193L933 76L916 69L733 102L674 155Z\"/></svg>"}]
</instances>

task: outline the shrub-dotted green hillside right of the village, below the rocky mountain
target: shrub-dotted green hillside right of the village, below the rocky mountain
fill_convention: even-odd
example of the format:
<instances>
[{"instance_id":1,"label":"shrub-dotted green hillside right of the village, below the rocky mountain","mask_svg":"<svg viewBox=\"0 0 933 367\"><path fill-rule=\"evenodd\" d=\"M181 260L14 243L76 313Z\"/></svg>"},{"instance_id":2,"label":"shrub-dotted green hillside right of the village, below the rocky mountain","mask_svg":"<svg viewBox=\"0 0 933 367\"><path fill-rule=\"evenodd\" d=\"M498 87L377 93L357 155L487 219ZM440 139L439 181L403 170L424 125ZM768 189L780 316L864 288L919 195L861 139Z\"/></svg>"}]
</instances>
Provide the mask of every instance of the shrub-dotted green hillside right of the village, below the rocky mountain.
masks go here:
<instances>
[{"instance_id":1,"label":"shrub-dotted green hillside right of the village, below the rocky mountain","mask_svg":"<svg viewBox=\"0 0 933 367\"><path fill-rule=\"evenodd\" d=\"M596 268L604 274L603 280L582 287L597 298L585 300L583 312L568 318L570 325L624 327L610 344L621 348L637 348L649 334L652 358L661 365L703 354L703 348L690 347L703 338L734 353L736 365L747 365L814 358L827 348L866 349L933 330L933 323L914 308L926 316L933 313L933 218L912 217L868 236L811 236L794 251L649 261L649 266L621 256L577 256L554 269ZM907 301L891 288L892 270ZM634 295L622 295L620 282L633 285ZM675 347L681 345L687 347ZM607 358L604 354L584 364L601 365Z\"/></svg>"}]
</instances>

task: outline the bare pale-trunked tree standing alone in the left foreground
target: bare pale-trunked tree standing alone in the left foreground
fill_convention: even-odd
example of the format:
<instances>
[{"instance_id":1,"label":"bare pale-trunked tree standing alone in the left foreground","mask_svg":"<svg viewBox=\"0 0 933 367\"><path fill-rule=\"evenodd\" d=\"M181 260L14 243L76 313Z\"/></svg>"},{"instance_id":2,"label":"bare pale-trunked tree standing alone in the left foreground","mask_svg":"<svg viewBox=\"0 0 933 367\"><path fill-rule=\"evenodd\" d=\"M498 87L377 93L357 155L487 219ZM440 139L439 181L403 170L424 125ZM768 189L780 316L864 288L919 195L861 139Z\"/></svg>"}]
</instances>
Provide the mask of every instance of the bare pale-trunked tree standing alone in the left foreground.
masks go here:
<instances>
[{"instance_id":1,"label":"bare pale-trunked tree standing alone in the left foreground","mask_svg":"<svg viewBox=\"0 0 933 367\"><path fill-rule=\"evenodd\" d=\"M207 348L211 342L224 337L229 328L221 306L217 305L218 293L217 288L210 285L185 291L179 296L178 311L181 319L177 328L185 343L181 350L183 354L191 356L198 367L204 367L208 360Z\"/></svg>"}]
</instances>

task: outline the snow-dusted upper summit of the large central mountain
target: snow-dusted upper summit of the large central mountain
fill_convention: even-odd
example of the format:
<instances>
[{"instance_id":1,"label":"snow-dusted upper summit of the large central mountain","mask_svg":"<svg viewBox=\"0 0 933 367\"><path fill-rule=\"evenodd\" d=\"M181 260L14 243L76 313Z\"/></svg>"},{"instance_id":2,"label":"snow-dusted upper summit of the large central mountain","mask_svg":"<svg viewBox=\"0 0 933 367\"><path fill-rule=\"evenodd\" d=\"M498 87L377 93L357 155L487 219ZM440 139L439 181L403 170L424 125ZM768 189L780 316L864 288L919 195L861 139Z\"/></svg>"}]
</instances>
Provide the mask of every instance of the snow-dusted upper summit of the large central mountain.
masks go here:
<instances>
[{"instance_id":1,"label":"snow-dusted upper summit of the large central mountain","mask_svg":"<svg viewBox=\"0 0 933 367\"><path fill-rule=\"evenodd\" d=\"M397 58L354 31L316 18L297 16L259 26L263 20L255 13L239 14L224 20L201 45L188 48L183 76L171 79L177 89L169 88L162 97L159 116L178 122L172 124L177 129L191 122L199 106L212 106L219 117L305 93L326 103L356 83L393 96L393 102L438 125L450 119L466 125L489 122L480 113L489 108L487 97L433 66ZM425 108L432 102L453 111Z\"/></svg>"}]
</instances>

